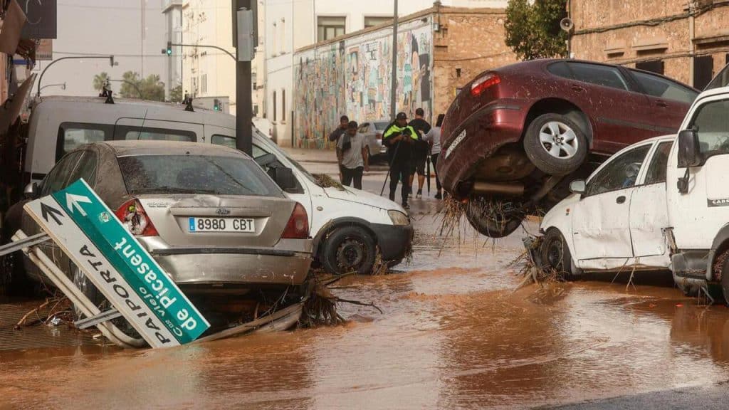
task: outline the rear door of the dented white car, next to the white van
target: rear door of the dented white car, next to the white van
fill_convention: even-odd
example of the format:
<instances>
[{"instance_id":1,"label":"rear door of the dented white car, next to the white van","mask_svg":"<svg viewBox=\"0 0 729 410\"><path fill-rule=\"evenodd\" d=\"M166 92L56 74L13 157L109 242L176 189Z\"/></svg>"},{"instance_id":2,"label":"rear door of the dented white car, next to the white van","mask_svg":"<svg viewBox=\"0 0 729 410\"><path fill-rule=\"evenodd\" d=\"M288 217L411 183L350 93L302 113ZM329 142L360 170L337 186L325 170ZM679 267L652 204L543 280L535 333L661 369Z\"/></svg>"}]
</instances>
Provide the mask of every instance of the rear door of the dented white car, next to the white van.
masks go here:
<instances>
[{"instance_id":1,"label":"rear door of the dented white car, next to the white van","mask_svg":"<svg viewBox=\"0 0 729 410\"><path fill-rule=\"evenodd\" d=\"M666 253L662 228L668 226L666 208L666 165L672 141L655 144L646 160L647 171L631 196L630 227L636 258Z\"/></svg>"}]
</instances>

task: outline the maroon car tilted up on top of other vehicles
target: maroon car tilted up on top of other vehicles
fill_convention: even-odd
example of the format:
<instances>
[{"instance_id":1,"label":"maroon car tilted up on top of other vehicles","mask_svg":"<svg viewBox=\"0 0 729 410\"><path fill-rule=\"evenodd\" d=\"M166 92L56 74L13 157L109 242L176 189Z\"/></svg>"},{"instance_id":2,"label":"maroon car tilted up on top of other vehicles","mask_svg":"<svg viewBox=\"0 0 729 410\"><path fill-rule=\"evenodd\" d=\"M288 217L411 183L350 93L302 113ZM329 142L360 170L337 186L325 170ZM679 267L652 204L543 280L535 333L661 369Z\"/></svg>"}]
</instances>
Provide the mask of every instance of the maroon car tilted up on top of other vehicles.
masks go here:
<instances>
[{"instance_id":1,"label":"maroon car tilted up on top of other vehicles","mask_svg":"<svg viewBox=\"0 0 729 410\"><path fill-rule=\"evenodd\" d=\"M642 139L677 131L698 90L658 74L576 60L485 71L451 104L437 165L484 235L564 198L578 174ZM498 209L487 212L484 209Z\"/></svg>"}]
</instances>

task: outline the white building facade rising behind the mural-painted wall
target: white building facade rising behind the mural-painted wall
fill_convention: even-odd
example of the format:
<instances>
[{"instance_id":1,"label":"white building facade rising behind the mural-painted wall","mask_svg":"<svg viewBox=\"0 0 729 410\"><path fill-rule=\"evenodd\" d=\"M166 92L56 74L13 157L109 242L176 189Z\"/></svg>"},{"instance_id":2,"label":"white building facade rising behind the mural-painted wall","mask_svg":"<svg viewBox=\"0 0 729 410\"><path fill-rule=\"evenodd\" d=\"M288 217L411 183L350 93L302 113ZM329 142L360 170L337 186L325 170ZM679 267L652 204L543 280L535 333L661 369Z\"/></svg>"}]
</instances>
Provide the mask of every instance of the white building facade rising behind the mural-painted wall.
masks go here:
<instances>
[{"instance_id":1,"label":"white building facade rising behind the mural-painted wall","mask_svg":"<svg viewBox=\"0 0 729 410\"><path fill-rule=\"evenodd\" d=\"M393 17L392 0L266 0L266 15L259 28L265 37L265 117L273 124L276 142L296 143L292 117L295 50L316 42L328 42L356 31L381 26ZM443 0L437 4L456 7L505 7L506 0ZM410 15L433 7L432 0L399 1L398 15ZM503 39L500 40L503 43Z\"/></svg>"}]
</instances>

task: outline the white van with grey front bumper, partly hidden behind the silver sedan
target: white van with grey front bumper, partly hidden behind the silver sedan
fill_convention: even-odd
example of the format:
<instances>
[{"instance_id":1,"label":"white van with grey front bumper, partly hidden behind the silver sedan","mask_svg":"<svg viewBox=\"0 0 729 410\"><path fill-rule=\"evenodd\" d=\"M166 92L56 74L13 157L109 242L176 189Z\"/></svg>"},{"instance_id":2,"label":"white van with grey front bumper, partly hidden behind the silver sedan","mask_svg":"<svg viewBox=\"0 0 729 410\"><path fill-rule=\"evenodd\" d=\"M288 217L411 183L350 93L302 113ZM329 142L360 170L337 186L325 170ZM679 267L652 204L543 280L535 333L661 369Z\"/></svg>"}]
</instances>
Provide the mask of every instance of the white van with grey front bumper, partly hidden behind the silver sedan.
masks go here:
<instances>
[{"instance_id":1,"label":"white van with grey front bumper, partly hidden behind the silver sedan","mask_svg":"<svg viewBox=\"0 0 729 410\"><path fill-rule=\"evenodd\" d=\"M320 187L295 160L253 127L253 156L267 169L293 171L289 196L309 216L315 260L330 273L369 273L378 254L394 266L408 254L413 226L388 199L348 187ZM235 147L235 117L208 109L101 97L44 97L31 109L24 179L41 182L66 152L112 139L203 142ZM8 220L12 224L12 221Z\"/></svg>"}]
</instances>

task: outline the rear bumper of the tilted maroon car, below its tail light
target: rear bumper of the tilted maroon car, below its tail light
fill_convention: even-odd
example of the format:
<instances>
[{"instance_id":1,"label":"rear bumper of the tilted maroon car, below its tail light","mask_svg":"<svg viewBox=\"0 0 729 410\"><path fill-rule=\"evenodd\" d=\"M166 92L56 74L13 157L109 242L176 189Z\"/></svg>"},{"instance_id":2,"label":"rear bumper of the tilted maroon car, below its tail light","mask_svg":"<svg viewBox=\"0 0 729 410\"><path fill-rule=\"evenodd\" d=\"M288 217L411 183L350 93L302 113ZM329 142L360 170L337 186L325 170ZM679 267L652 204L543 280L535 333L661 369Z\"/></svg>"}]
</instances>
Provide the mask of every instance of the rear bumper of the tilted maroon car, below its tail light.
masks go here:
<instances>
[{"instance_id":1,"label":"rear bumper of the tilted maroon car, below its tail light","mask_svg":"<svg viewBox=\"0 0 729 410\"><path fill-rule=\"evenodd\" d=\"M510 101L494 101L454 128L438 157L437 174L445 190L459 196L459 184L472 176L481 160L504 144L519 142L525 111ZM464 139L451 147L464 130Z\"/></svg>"}]
</instances>

